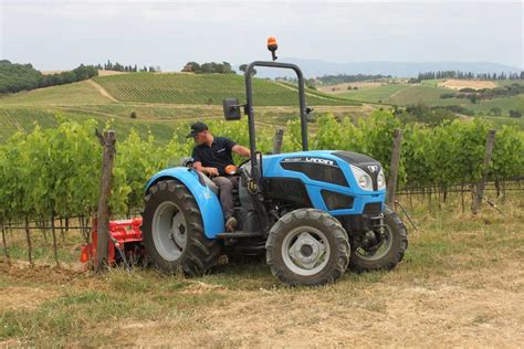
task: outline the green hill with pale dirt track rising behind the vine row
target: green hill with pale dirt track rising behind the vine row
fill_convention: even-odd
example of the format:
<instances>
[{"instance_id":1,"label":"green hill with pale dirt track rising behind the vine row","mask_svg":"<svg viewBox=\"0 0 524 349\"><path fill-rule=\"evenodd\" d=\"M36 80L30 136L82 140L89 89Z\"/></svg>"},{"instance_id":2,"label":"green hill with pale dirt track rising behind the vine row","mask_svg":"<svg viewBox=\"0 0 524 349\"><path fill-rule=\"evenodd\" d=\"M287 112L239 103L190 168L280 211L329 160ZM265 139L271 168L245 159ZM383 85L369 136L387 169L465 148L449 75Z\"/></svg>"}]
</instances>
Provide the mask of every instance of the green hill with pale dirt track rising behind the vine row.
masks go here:
<instances>
[{"instance_id":1,"label":"green hill with pale dirt track rising behind the vine row","mask_svg":"<svg viewBox=\"0 0 524 349\"><path fill-rule=\"evenodd\" d=\"M56 117L94 118L101 127L109 123L118 135L132 128L158 142L171 139L176 123L221 119L223 97L245 101L243 80L237 75L122 74L98 76L96 81L38 88L0 97L0 142L19 130L35 125L55 127ZM297 117L296 87L254 81L256 123L265 127L285 125ZM369 106L308 91L315 112L364 116ZM136 118L130 114L135 112Z\"/></svg>"}]
</instances>

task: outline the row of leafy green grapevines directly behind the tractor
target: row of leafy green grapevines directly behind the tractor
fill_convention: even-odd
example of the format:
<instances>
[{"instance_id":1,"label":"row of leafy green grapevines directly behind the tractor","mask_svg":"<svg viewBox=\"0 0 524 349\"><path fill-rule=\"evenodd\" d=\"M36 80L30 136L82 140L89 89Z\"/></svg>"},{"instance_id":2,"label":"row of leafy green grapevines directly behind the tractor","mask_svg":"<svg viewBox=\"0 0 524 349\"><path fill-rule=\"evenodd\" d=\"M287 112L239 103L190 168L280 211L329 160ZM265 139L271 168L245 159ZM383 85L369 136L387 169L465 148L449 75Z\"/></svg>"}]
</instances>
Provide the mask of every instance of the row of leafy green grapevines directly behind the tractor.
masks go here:
<instances>
[{"instance_id":1,"label":"row of leafy green grapevines directly behind the tractor","mask_svg":"<svg viewBox=\"0 0 524 349\"><path fill-rule=\"evenodd\" d=\"M242 121L210 121L217 135L248 145ZM18 133L0 146L0 220L50 220L90 216L95 209L99 186L101 149L93 136L95 120L59 120L56 128ZM109 127L109 126L107 126ZM258 147L272 148L274 129L259 127ZM375 112L354 124L333 115L318 118L313 149L344 149L367 154L379 160L388 174L392 135L402 125L389 112ZM481 177L485 139L490 126L482 120L444 123L434 128L405 126L399 169L399 188L409 186L447 187L478 181ZM158 146L149 134L132 130L117 141L112 212L125 215L142 207L143 189L156 171L178 166L191 152L184 138L188 123L177 124L171 140ZM287 123L283 151L300 149L300 124ZM503 127L496 133L490 177L507 179L524 173L524 133Z\"/></svg>"}]
</instances>

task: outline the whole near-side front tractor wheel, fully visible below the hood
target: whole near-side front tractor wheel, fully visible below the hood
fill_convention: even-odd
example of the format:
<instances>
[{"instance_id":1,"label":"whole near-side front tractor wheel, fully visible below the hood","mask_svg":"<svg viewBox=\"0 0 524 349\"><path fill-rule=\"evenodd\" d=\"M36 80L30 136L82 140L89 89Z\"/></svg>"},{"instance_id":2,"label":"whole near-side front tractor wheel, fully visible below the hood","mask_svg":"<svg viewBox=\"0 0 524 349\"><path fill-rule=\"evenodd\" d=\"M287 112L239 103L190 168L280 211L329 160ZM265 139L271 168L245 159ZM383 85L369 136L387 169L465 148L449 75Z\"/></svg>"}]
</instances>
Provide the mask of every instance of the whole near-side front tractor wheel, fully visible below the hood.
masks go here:
<instances>
[{"instance_id":1,"label":"whole near-side front tractor wheel, fully visible below the hood","mask_svg":"<svg viewBox=\"0 0 524 349\"><path fill-rule=\"evenodd\" d=\"M307 235L306 240L303 240L304 243L300 244L298 242L304 232L315 237L324 246L322 248L325 248L327 254L327 257L323 258L318 266L312 268L297 265L297 263L302 264L302 261L297 262L290 253L291 250L295 250L292 247L297 244L302 247L307 246ZM296 237L296 234L301 235ZM310 248L310 252L313 251L311 253L313 257L317 255L315 247L311 247L316 246L315 244L313 242L306 248L306 251ZM302 247L300 253L304 257ZM271 229L265 248L266 262L271 267L271 272L282 283L290 286L314 286L334 283L346 271L350 254L347 233L340 223L331 214L315 209L298 209L283 215ZM306 252L305 257L308 257L307 254Z\"/></svg>"}]
</instances>

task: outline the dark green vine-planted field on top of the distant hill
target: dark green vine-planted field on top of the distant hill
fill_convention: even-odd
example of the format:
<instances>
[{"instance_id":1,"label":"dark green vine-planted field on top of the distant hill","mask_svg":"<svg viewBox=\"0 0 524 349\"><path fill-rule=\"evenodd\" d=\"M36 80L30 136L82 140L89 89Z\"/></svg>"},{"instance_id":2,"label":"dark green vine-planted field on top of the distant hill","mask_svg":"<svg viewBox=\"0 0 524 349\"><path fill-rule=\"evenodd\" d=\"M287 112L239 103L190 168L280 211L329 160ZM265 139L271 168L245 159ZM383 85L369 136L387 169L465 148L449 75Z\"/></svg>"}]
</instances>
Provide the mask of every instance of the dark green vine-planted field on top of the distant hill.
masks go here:
<instances>
[{"instance_id":1,"label":"dark green vine-planted field on top of the distant hill","mask_svg":"<svg viewBox=\"0 0 524 349\"><path fill-rule=\"evenodd\" d=\"M227 97L243 98L244 78L230 74L124 74L98 76L94 81L122 102L221 105ZM255 78L255 104L298 105L294 87ZM355 102L310 92L312 105L352 105Z\"/></svg>"}]
</instances>

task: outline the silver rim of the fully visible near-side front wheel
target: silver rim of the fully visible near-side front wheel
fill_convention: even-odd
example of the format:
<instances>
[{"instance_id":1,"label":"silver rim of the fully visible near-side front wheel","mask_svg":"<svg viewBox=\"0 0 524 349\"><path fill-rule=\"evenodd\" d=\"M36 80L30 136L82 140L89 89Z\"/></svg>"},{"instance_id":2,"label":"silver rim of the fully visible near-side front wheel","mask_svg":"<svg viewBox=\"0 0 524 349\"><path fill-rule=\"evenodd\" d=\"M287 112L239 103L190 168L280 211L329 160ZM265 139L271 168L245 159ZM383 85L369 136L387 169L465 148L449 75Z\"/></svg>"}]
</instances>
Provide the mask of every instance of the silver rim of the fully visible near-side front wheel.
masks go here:
<instances>
[{"instance_id":1,"label":"silver rim of the fully visible near-side front wheel","mask_svg":"<svg viewBox=\"0 0 524 349\"><path fill-rule=\"evenodd\" d=\"M313 226L298 226L289 232L282 242L285 266L302 276L315 275L329 261L331 250L326 235Z\"/></svg>"}]
</instances>

